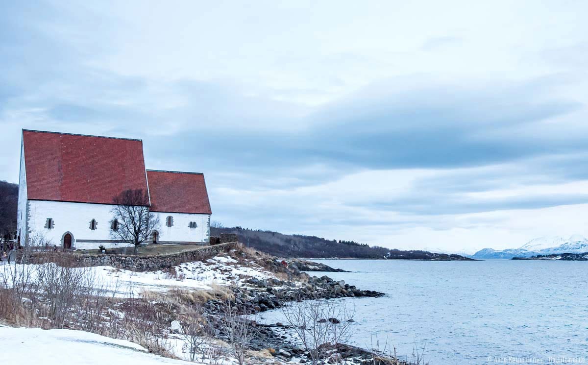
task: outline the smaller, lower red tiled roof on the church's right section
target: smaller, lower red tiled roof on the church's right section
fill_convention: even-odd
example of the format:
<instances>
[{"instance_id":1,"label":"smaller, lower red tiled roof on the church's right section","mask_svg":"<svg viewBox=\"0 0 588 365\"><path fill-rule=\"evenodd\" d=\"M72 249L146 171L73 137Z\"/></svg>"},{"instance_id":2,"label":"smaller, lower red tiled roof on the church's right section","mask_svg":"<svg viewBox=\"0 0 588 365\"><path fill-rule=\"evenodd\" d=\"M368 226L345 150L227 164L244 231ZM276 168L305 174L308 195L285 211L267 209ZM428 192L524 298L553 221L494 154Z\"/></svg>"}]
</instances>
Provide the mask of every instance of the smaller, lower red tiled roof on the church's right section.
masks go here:
<instances>
[{"instance_id":1,"label":"smaller, lower red tiled roof on the church's right section","mask_svg":"<svg viewBox=\"0 0 588 365\"><path fill-rule=\"evenodd\" d=\"M212 214L204 175L147 170L154 212Z\"/></svg>"}]
</instances>

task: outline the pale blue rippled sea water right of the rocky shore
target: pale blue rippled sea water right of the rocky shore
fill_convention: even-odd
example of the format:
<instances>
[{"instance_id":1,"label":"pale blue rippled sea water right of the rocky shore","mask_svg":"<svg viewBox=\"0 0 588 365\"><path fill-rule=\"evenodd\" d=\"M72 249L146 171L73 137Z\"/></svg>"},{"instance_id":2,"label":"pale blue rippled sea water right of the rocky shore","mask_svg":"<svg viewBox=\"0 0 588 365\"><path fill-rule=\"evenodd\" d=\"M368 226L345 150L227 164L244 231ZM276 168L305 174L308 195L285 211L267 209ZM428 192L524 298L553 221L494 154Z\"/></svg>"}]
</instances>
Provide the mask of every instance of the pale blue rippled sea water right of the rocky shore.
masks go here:
<instances>
[{"instance_id":1,"label":"pale blue rippled sea water right of the rocky shore","mask_svg":"<svg viewBox=\"0 0 588 365\"><path fill-rule=\"evenodd\" d=\"M431 365L588 364L588 262L316 261L352 272L310 274L386 293L345 299L358 346L424 346Z\"/></svg>"}]
</instances>

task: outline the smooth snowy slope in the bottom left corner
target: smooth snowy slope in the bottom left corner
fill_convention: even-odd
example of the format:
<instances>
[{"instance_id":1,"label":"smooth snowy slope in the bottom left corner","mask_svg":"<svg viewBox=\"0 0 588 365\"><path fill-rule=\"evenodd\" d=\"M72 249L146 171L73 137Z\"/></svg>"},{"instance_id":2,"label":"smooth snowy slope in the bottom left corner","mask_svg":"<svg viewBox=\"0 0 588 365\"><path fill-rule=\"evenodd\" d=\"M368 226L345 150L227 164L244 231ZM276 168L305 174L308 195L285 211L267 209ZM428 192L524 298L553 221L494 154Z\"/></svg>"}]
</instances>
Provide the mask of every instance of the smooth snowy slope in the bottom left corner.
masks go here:
<instances>
[{"instance_id":1,"label":"smooth snowy slope in the bottom left corner","mask_svg":"<svg viewBox=\"0 0 588 365\"><path fill-rule=\"evenodd\" d=\"M0 327L2 364L196 364L148 353L138 344L75 330Z\"/></svg>"}]
</instances>

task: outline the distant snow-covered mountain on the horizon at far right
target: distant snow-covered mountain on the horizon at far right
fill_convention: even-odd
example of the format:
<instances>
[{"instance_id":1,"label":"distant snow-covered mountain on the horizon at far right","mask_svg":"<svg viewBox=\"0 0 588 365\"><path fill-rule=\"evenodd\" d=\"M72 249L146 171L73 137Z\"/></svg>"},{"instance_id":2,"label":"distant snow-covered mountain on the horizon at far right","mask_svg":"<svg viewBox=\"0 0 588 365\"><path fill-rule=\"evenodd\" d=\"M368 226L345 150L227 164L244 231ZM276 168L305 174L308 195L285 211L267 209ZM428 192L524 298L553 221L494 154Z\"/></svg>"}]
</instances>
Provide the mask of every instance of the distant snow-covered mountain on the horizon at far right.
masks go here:
<instances>
[{"instance_id":1,"label":"distant snow-covered mountain on the horizon at far right","mask_svg":"<svg viewBox=\"0 0 588 365\"><path fill-rule=\"evenodd\" d=\"M581 235L569 238L539 237L532 239L518 249L493 250L482 249L472 257L475 259L512 259L513 257L531 257L536 255L551 255L553 253L584 253L588 252L588 240Z\"/></svg>"}]
</instances>

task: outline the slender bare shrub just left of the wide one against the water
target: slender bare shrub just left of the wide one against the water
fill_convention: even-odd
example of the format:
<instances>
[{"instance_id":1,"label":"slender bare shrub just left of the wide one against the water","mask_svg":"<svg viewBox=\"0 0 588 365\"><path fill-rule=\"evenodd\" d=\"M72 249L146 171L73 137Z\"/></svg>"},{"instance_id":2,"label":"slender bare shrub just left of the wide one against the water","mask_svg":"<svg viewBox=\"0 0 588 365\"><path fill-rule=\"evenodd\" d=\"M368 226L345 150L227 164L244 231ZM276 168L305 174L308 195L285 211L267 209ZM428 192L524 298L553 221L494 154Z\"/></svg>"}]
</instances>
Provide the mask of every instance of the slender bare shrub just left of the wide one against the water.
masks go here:
<instances>
[{"instance_id":1,"label":"slender bare shrub just left of the wide one against the water","mask_svg":"<svg viewBox=\"0 0 588 365\"><path fill-rule=\"evenodd\" d=\"M239 309L235 303L229 301L223 309L223 317L220 321L220 327L227 335L239 365L245 363L245 350L253 338L259 334L255 321L245 318L245 314L245 309Z\"/></svg>"}]
</instances>

